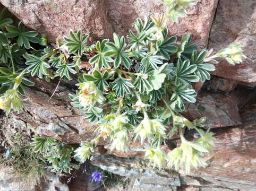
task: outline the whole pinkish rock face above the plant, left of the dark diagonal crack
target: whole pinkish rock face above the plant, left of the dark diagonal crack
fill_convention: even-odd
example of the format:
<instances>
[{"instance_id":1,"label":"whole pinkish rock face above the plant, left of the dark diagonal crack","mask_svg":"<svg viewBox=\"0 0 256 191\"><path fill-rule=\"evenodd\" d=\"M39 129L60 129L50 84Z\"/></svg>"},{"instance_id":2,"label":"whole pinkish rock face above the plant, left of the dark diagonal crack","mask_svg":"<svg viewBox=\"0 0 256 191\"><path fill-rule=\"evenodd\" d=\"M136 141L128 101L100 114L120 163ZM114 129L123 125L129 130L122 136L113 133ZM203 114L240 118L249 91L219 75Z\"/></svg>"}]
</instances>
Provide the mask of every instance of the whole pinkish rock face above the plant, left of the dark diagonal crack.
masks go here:
<instances>
[{"instance_id":1,"label":"whole pinkish rock face above the plant, left of the dark diagonal crack","mask_svg":"<svg viewBox=\"0 0 256 191\"><path fill-rule=\"evenodd\" d=\"M163 12L161 0L40 0L0 1L28 27L47 34L51 40L81 28L93 39L111 38L113 32L126 35L136 18ZM172 34L194 35L194 41L206 47L218 0L199 0L179 23L170 22Z\"/></svg>"}]
</instances>

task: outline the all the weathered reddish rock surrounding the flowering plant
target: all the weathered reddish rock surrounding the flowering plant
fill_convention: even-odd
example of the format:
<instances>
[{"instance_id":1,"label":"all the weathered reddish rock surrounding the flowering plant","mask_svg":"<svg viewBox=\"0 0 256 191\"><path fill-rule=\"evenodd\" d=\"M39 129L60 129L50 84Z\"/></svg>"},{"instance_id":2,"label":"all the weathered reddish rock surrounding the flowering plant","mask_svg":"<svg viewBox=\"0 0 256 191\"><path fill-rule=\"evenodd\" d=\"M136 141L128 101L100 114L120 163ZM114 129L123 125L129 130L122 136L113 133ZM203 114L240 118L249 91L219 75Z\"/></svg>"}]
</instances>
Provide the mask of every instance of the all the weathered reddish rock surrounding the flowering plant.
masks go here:
<instances>
[{"instance_id":1,"label":"all the weathered reddish rock surrounding the flowering plant","mask_svg":"<svg viewBox=\"0 0 256 191\"><path fill-rule=\"evenodd\" d=\"M144 15L164 9L160 0L0 2L28 27L46 33L53 41L56 37L67 34L69 29L79 28L90 33L92 40L111 38L112 32L126 35L135 18L143 18ZM218 0L197 2L195 7L189 9L186 18L180 19L178 23L169 23L170 33L181 36L184 32L190 32L193 34L193 41L201 47L208 46L215 50L224 48L235 40L242 41L248 57L237 66L229 66L220 60L214 74L222 77L214 77L205 84L197 102L191 104L186 112L190 119L206 116L209 127L225 128L214 128L215 154L207 158L207 168L194 170L191 176L185 176L183 170L152 171L148 162L143 160L144 152L140 145L131 145L129 152L121 153L109 152L108 143L101 142L96 153L98 155L93 156L92 162L118 175L130 177L133 181L129 190L256 190L256 89L237 85L256 84L256 3L253 0L219 0L215 16ZM0 126L3 131L0 131L0 137L7 140L7 143L1 141L3 147L8 144L9 133L11 136L16 128L24 129L22 133L25 134L30 133L25 129L33 128L37 134L52 136L69 143L80 143L95 136L93 130L97 126L88 123L83 119L83 112L70 106L68 94L75 92L75 82L61 82L55 95L49 100L58 81L33 81L36 85L27 89L24 97L25 110L1 119ZM202 84L195 86L199 90ZM10 132L7 131L9 126ZM166 151L172 149L172 140L169 141L170 144L167 143L164 148ZM87 189L88 185L83 186L83 175L78 173L78 176L80 178L71 183L70 190ZM3 181L0 180L0 190L6 190L6 185L9 182L11 185L12 181L16 183L15 180L9 181L6 178L2 184ZM58 183L57 181L56 184Z\"/></svg>"}]
</instances>

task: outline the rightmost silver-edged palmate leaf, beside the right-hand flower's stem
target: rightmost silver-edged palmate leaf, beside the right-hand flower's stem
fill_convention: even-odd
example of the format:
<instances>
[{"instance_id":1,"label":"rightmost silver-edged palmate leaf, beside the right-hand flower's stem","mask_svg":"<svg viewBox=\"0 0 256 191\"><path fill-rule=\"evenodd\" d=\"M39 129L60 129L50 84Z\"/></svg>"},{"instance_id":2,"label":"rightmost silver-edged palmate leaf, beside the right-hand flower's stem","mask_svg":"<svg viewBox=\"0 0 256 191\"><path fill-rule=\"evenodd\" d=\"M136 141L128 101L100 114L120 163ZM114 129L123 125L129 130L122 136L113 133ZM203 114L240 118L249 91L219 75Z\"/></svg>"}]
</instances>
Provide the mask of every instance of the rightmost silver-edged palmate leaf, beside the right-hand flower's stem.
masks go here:
<instances>
[{"instance_id":1,"label":"rightmost silver-edged palmate leaf, beside the right-hand flower's stem","mask_svg":"<svg viewBox=\"0 0 256 191\"><path fill-rule=\"evenodd\" d=\"M210 73L208 71L215 71L215 66L210 63L203 63L204 58L208 55L208 51L203 49L199 54L196 50L191 54L191 64L197 65L195 74L200 78L201 82L210 80Z\"/></svg>"}]
</instances>

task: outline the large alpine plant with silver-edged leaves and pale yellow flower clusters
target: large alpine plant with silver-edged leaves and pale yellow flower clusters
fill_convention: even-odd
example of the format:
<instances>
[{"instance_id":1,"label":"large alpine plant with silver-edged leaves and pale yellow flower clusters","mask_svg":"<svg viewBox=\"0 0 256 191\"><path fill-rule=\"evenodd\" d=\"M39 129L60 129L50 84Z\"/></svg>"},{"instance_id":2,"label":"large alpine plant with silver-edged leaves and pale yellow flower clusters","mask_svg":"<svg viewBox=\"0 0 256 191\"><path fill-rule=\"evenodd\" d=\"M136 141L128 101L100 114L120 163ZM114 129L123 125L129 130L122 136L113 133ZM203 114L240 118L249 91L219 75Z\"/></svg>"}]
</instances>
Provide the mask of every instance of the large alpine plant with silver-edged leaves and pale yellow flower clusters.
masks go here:
<instances>
[{"instance_id":1,"label":"large alpine plant with silver-edged leaves and pale yellow flower clusters","mask_svg":"<svg viewBox=\"0 0 256 191\"><path fill-rule=\"evenodd\" d=\"M245 56L239 42L212 54L212 50L199 50L191 42L191 34L185 33L177 41L176 36L168 34L168 19L177 21L185 16L186 7L195 1L163 3L165 14L136 19L127 38L114 33L113 41L104 39L88 45L88 34L70 30L63 41L57 39L54 49L45 36L25 32L21 23L15 27L1 14L0 108L7 113L22 109L23 85L34 84L26 76L37 75L47 81L56 77L68 81L78 76L77 91L70 94L71 105L84 111L84 119L98 124L98 128L92 141L82 142L74 151L74 158L80 162L89 159L100 140L109 140L111 150L123 152L138 141L153 167L184 167L187 173L191 168L205 167L203 157L213 150L213 133L202 129L205 118L190 121L182 116L187 104L196 102L192 83L210 80L210 72L218 63L215 58L235 65ZM36 50L31 47L35 43L46 48ZM24 60L27 67L22 64ZM84 65L83 60L89 64ZM186 140L185 128L197 131L198 140ZM176 133L181 143L166 153L161 145Z\"/></svg>"}]
</instances>

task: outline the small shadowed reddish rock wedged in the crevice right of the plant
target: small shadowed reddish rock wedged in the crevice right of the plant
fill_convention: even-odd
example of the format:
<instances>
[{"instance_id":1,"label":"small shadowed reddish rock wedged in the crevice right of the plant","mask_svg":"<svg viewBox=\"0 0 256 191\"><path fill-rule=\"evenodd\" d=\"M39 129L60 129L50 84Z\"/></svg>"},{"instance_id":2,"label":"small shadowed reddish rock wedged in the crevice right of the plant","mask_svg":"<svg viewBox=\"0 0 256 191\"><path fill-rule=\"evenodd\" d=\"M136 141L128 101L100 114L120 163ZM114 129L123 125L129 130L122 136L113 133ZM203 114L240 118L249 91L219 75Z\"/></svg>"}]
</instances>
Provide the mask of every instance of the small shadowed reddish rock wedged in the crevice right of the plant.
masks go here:
<instances>
[{"instance_id":1,"label":"small shadowed reddish rock wedged in the crevice right of the plant","mask_svg":"<svg viewBox=\"0 0 256 191\"><path fill-rule=\"evenodd\" d=\"M212 91L231 92L235 89L237 81L225 79L224 77L213 76L210 81L206 82L206 89Z\"/></svg>"}]
</instances>

